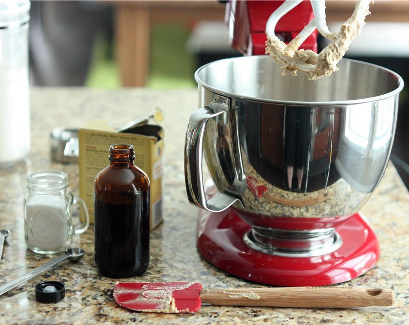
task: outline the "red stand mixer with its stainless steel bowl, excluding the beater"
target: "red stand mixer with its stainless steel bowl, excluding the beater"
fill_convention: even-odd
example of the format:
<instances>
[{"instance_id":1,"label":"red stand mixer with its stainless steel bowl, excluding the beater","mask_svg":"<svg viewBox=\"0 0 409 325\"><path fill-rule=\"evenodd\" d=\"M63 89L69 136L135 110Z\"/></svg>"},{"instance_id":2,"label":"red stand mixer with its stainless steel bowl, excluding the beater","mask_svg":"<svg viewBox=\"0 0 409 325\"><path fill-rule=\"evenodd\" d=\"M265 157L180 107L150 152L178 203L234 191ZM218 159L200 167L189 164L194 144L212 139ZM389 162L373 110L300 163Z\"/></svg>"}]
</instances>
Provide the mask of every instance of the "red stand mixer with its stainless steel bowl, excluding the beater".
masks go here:
<instances>
[{"instance_id":1,"label":"red stand mixer with its stainless steel bowl, excluding the beater","mask_svg":"<svg viewBox=\"0 0 409 325\"><path fill-rule=\"evenodd\" d=\"M232 46L264 54L265 22L281 2L229 2ZM312 18L304 1L276 35L288 41ZM316 39L303 47L316 51ZM371 269L379 244L359 210L387 166L402 78L343 59L338 72L308 81L250 55L209 63L195 79L201 108L191 115L184 155L189 201L202 208L202 256L280 286L330 285Z\"/></svg>"}]
</instances>

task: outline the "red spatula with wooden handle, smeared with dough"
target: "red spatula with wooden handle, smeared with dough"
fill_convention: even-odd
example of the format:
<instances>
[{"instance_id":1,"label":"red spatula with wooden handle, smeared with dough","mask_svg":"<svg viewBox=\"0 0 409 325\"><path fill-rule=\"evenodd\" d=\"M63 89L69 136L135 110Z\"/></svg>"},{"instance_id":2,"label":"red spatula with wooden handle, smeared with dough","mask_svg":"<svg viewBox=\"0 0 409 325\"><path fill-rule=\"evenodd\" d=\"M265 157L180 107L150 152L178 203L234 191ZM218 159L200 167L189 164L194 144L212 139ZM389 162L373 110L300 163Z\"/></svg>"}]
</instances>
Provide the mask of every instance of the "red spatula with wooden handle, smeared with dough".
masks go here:
<instances>
[{"instance_id":1,"label":"red spatula with wooden handle, smeared with dough","mask_svg":"<svg viewBox=\"0 0 409 325\"><path fill-rule=\"evenodd\" d=\"M197 282L122 282L115 301L139 312L196 312L202 303L225 306L349 308L391 306L391 289L362 287L280 287L202 289Z\"/></svg>"}]
</instances>

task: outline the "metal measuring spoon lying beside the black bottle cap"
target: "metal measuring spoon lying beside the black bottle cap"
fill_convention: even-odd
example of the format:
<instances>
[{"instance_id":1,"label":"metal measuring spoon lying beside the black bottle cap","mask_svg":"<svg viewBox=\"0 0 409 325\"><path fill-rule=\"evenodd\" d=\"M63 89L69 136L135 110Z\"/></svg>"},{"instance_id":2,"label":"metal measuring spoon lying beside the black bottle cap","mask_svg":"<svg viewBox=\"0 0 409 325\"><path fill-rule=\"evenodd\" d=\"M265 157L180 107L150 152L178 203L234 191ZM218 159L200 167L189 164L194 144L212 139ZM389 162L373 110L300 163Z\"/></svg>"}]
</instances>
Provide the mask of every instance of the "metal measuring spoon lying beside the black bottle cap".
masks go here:
<instances>
[{"instance_id":1,"label":"metal measuring spoon lying beside the black bottle cap","mask_svg":"<svg viewBox=\"0 0 409 325\"><path fill-rule=\"evenodd\" d=\"M41 272L49 269L50 267L54 266L55 264L62 262L63 260L70 260L71 262L77 262L80 260L84 254L85 251L82 248L69 248L66 249L64 255L61 255L57 258L54 258L53 260L48 261L47 263L36 267L35 269L25 273L24 275L18 277L15 280L12 280L8 283L5 283L4 285L0 286L0 296L2 294L5 294L7 291L14 289L18 285L21 285L23 282L26 282L27 280L30 280L31 278L34 278L34 276L40 274Z\"/></svg>"}]
</instances>

